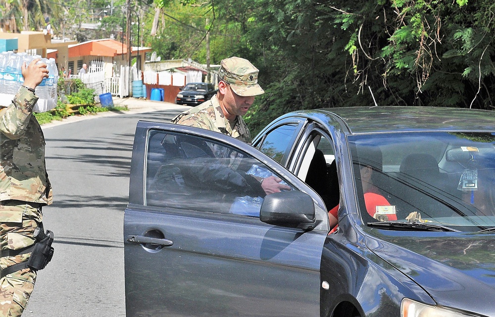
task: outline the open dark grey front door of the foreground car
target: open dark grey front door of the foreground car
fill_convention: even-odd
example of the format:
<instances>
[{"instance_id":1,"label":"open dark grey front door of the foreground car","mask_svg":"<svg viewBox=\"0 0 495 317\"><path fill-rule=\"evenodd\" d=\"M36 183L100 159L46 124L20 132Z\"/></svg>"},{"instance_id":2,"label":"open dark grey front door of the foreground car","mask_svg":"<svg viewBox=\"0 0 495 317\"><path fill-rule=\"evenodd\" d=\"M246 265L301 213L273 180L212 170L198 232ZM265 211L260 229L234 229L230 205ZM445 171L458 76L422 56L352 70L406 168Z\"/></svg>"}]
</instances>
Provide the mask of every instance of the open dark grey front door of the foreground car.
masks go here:
<instances>
[{"instance_id":1,"label":"open dark grey front door of the foreground car","mask_svg":"<svg viewBox=\"0 0 495 317\"><path fill-rule=\"evenodd\" d=\"M269 176L312 197L313 230L260 221ZM124 216L126 315L319 316L328 230L321 198L253 147L140 121Z\"/></svg>"}]
</instances>

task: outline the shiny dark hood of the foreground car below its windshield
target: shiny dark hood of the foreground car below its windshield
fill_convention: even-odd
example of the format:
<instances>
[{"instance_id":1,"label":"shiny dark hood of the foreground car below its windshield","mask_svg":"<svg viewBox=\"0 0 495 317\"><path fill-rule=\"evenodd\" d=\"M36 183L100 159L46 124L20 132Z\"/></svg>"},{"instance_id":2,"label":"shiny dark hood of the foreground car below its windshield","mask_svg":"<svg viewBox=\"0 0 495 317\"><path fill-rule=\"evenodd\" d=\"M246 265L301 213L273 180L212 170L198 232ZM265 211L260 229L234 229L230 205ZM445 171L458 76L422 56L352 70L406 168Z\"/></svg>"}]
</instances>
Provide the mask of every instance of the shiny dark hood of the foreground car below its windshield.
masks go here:
<instances>
[{"instance_id":1,"label":"shiny dark hood of the foreground car below its windshield","mask_svg":"<svg viewBox=\"0 0 495 317\"><path fill-rule=\"evenodd\" d=\"M370 229L366 245L440 305L495 316L495 233Z\"/></svg>"}]
</instances>

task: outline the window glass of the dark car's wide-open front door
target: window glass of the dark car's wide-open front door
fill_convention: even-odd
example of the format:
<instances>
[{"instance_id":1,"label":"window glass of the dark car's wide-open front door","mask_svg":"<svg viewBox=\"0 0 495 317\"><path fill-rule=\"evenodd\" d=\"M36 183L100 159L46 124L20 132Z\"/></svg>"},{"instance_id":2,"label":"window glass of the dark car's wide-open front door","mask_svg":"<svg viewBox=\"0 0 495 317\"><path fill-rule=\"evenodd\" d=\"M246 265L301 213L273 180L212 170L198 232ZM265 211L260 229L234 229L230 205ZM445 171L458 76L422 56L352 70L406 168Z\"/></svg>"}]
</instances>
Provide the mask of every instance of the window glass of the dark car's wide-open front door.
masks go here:
<instances>
[{"instance_id":1,"label":"window glass of the dark car's wide-open front door","mask_svg":"<svg viewBox=\"0 0 495 317\"><path fill-rule=\"evenodd\" d=\"M257 217L265 196L261 181L273 176L280 177L227 145L159 130L148 133L148 206Z\"/></svg>"}]
</instances>

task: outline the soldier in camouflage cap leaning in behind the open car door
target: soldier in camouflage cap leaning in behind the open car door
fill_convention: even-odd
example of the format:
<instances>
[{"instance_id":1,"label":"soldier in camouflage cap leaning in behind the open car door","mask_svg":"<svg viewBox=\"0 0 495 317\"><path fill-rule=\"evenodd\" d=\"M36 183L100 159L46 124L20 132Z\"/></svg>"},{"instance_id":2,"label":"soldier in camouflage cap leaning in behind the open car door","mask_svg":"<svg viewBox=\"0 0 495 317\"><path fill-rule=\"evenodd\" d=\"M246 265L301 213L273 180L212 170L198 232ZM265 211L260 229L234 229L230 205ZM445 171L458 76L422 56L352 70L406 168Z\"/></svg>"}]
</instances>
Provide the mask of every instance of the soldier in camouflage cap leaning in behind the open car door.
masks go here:
<instances>
[{"instance_id":1,"label":"soldier in camouflage cap leaning in behind the open car door","mask_svg":"<svg viewBox=\"0 0 495 317\"><path fill-rule=\"evenodd\" d=\"M254 96L263 93L258 85L256 67L245 58L226 58L220 63L217 94L201 105L182 112L171 122L220 132L251 144L251 133L242 116L254 102ZM267 195L290 190L289 186L280 184L282 179L275 176L259 181Z\"/></svg>"}]
</instances>

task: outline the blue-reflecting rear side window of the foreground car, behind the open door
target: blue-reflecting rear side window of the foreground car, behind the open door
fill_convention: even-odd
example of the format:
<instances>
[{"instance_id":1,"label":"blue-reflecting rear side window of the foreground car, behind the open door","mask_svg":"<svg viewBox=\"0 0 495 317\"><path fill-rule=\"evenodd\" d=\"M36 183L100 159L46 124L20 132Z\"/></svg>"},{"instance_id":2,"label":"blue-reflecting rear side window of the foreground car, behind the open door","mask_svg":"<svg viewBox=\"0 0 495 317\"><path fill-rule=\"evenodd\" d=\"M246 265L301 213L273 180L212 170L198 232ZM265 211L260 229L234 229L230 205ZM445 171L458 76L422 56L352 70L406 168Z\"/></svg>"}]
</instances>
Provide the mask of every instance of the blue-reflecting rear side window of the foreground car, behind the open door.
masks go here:
<instances>
[{"instance_id":1,"label":"blue-reflecting rear side window of the foreground car, behind the open door","mask_svg":"<svg viewBox=\"0 0 495 317\"><path fill-rule=\"evenodd\" d=\"M270 158L282 163L286 152L290 150L290 141L294 137L297 124L285 124L272 130L258 147Z\"/></svg>"}]
</instances>

